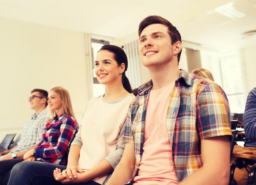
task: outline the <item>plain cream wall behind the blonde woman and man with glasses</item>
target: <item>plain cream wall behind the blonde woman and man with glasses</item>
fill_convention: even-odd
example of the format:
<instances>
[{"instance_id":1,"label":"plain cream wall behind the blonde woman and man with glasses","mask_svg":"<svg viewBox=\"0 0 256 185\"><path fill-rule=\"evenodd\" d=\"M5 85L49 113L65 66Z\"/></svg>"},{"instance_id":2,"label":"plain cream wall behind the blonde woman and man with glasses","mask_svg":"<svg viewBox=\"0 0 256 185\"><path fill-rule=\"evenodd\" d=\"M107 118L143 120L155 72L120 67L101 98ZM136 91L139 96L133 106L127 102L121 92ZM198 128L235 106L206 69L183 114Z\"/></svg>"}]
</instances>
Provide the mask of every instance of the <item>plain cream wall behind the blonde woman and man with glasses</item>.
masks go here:
<instances>
[{"instance_id":1,"label":"plain cream wall behind the blonde woman and man with glasses","mask_svg":"<svg viewBox=\"0 0 256 185\"><path fill-rule=\"evenodd\" d=\"M33 114L34 88L65 87L77 119L88 103L85 33L0 18L0 141Z\"/></svg>"}]
</instances>

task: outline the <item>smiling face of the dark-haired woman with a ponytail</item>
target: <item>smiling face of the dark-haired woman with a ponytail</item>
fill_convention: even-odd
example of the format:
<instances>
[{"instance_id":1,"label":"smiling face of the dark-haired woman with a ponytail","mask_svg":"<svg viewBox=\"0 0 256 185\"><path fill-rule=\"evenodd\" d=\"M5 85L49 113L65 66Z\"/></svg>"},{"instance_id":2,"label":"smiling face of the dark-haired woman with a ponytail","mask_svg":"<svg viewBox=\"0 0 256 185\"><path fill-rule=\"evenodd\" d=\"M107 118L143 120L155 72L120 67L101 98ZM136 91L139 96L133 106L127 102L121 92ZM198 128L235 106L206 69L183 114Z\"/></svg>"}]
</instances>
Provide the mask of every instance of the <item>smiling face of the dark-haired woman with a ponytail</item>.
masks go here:
<instances>
[{"instance_id":1,"label":"smiling face of the dark-haired woman with a ponytail","mask_svg":"<svg viewBox=\"0 0 256 185\"><path fill-rule=\"evenodd\" d=\"M95 61L95 75L99 83L103 85L121 80L124 72L124 63L120 66L114 58L114 53L108 50L100 50Z\"/></svg>"}]
</instances>

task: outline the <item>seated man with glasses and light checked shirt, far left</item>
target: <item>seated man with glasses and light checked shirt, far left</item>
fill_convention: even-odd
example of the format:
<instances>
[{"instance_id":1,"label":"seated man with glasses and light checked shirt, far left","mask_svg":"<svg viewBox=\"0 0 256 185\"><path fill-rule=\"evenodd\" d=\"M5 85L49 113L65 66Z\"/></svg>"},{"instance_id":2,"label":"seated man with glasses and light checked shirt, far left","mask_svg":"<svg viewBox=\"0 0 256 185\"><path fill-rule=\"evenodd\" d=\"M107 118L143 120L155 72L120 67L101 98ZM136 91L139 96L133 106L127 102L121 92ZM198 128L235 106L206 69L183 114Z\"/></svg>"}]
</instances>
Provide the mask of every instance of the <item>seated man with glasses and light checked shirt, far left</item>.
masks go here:
<instances>
[{"instance_id":1,"label":"seated man with glasses and light checked shirt, far left","mask_svg":"<svg viewBox=\"0 0 256 185\"><path fill-rule=\"evenodd\" d=\"M28 101L30 108L34 110L34 114L25 122L18 144L0 153L0 185L7 184L4 181L4 176L9 177L11 168L22 161L23 155L28 150L34 149L42 139L43 128L49 120L49 114L46 110L47 96L48 92L43 89L33 89L31 91Z\"/></svg>"}]
</instances>

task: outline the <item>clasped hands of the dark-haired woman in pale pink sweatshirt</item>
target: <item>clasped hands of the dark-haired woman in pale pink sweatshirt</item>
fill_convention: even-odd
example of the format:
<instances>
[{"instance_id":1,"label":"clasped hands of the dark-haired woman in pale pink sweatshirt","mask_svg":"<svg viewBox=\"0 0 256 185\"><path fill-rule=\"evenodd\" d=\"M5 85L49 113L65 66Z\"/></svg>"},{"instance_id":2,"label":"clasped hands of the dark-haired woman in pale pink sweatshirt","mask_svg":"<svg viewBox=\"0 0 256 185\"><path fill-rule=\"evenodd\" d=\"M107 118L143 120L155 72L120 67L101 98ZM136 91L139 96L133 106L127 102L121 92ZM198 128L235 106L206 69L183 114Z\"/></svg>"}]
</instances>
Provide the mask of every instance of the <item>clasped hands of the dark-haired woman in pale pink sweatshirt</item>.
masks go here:
<instances>
[{"instance_id":1,"label":"clasped hands of the dark-haired woman in pale pink sweatshirt","mask_svg":"<svg viewBox=\"0 0 256 185\"><path fill-rule=\"evenodd\" d=\"M82 183L84 179L82 179L83 169L73 165L73 166L67 166L66 169L64 169L61 172L61 169L56 168L53 171L53 176L56 181L59 181L63 184L70 184L70 183Z\"/></svg>"}]
</instances>

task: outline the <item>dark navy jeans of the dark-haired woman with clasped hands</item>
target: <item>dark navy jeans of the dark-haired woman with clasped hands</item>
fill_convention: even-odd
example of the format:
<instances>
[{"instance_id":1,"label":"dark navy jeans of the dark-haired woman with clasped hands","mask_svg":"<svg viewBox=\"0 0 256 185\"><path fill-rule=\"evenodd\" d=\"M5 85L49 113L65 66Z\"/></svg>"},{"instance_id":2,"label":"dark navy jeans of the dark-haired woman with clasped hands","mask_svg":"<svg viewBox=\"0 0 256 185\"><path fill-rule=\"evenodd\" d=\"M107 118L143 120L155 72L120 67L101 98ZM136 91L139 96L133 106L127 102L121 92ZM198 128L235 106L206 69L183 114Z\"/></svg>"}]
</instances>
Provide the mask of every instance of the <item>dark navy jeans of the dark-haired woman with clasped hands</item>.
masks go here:
<instances>
[{"instance_id":1,"label":"dark navy jeans of the dark-haired woman with clasped hands","mask_svg":"<svg viewBox=\"0 0 256 185\"><path fill-rule=\"evenodd\" d=\"M18 163L11 170L8 185L61 185L62 183L54 179L53 170L55 168L59 168L62 171L66 169L66 166L40 161ZM99 185L99 183L90 181L76 185Z\"/></svg>"}]
</instances>

